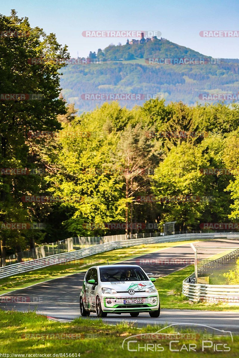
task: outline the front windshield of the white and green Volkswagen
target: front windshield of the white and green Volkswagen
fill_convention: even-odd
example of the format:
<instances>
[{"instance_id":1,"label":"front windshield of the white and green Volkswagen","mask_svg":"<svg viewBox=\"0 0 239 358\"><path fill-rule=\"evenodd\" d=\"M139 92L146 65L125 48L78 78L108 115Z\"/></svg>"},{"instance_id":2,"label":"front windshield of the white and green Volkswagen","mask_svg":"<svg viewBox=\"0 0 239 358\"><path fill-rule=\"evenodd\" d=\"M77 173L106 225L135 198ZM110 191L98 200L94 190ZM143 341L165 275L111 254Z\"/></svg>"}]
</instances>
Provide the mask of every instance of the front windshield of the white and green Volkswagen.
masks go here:
<instances>
[{"instance_id":1,"label":"front windshield of the white and green Volkswagen","mask_svg":"<svg viewBox=\"0 0 239 358\"><path fill-rule=\"evenodd\" d=\"M100 269L101 282L149 281L140 267L104 267Z\"/></svg>"}]
</instances>

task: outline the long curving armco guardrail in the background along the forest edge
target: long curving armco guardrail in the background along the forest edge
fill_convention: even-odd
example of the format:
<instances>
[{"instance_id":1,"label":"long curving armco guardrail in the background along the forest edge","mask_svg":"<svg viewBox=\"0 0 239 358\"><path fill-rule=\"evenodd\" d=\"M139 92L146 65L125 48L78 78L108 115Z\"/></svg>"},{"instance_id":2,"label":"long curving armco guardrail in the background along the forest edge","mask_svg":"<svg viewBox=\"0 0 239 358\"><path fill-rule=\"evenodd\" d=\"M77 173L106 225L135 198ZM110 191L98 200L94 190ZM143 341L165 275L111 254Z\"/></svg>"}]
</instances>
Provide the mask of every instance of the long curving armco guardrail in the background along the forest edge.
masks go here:
<instances>
[{"instance_id":1,"label":"long curving armco guardrail in the background along the forest edge","mask_svg":"<svg viewBox=\"0 0 239 358\"><path fill-rule=\"evenodd\" d=\"M105 252L116 248L129 247L140 244L149 244L157 242L174 242L174 241L185 241L185 240L199 240L199 239L213 239L213 238L239 238L239 234L236 233L202 233L202 234L180 234L161 237L151 237L143 239L133 239L109 242L84 248L77 251L59 253L48 257L39 258L37 260L25 261L20 263L14 263L13 265L4 266L0 268L0 279L8 276L21 274L32 270L41 269L43 267L56 265L61 262L69 262L73 260L79 260L80 258L94 255L95 253Z\"/></svg>"}]
</instances>

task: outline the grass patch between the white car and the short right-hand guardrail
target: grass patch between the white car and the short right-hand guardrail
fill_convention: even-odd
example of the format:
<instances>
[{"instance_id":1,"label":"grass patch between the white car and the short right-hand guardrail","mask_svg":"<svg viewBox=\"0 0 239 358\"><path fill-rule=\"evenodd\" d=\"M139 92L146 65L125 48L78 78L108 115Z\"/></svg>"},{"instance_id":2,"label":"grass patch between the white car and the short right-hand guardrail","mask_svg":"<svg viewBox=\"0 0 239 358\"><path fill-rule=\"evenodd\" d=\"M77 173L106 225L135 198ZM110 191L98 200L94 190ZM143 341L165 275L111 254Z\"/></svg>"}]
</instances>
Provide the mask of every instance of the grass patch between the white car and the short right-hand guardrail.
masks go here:
<instances>
[{"instance_id":1,"label":"grass patch between the white car and the short right-hand guardrail","mask_svg":"<svg viewBox=\"0 0 239 358\"><path fill-rule=\"evenodd\" d=\"M155 286L159 293L161 308L191 309L210 311L239 311L239 306L231 306L228 303L203 303L191 302L182 294L182 281L194 272L194 265L173 272L164 277L159 277Z\"/></svg>"}]
</instances>

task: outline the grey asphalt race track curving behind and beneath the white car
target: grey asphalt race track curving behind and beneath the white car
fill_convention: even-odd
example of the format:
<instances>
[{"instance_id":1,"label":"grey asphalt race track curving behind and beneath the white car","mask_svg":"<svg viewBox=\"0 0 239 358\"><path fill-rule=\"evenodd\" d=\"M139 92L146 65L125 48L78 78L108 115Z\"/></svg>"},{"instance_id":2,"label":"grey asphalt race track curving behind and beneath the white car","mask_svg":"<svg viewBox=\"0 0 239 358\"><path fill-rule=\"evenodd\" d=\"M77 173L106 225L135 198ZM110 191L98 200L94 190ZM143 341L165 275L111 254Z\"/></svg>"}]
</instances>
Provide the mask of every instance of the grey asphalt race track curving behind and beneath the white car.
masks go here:
<instances>
[{"instance_id":1,"label":"grey asphalt race track curving behind and beneath the white car","mask_svg":"<svg viewBox=\"0 0 239 358\"><path fill-rule=\"evenodd\" d=\"M204 241L204 246L217 246L227 240ZM197 242L198 244L199 242ZM230 240L232 244L238 241ZM189 244L170 247L158 252L133 258L122 263L140 265L147 274L154 277L165 276L193 262L193 251ZM3 310L28 311L36 310L55 319L73 320L80 316L79 294L85 273L74 274L46 281L24 289L15 290L0 296L0 308ZM10 299L7 297L11 297ZM90 319L97 316L91 313ZM89 319L89 318L86 318ZM142 313L137 318L129 314L108 314L104 321L116 324L124 321L137 323L138 326L147 324L177 324L188 326L203 324L216 329L230 330L239 333L239 314L232 311L199 311L162 309L159 318L150 318L148 313Z\"/></svg>"}]
</instances>

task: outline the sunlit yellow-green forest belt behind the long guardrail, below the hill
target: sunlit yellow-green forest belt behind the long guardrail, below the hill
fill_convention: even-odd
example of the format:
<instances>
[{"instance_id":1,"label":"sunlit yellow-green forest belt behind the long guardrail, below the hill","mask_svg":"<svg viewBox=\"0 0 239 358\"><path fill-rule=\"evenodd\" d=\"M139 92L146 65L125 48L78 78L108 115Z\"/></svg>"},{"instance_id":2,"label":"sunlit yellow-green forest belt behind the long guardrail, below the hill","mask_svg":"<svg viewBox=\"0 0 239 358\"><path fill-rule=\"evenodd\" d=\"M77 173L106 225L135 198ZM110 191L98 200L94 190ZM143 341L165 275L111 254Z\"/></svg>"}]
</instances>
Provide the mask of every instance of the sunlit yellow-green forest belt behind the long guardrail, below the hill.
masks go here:
<instances>
[{"instance_id":1,"label":"sunlit yellow-green forest belt behind the long guardrail, below the hill","mask_svg":"<svg viewBox=\"0 0 239 358\"><path fill-rule=\"evenodd\" d=\"M190 108L182 102L166 106L162 100L150 100L132 111L105 103L75 117L64 125L52 162L60 163L62 174L49 178L49 185L56 184L51 185L55 194L82 198L63 204L69 215L64 222L67 230L95 236L124 233L105 228L110 222L157 222L162 228L165 221L177 221L177 230L199 229L201 222L226 222L233 205L229 184L236 185L235 175L205 175L201 169L229 165L227 142L234 143L234 150L231 135L237 113L237 106ZM218 132L210 131L212 117ZM68 131L73 135L64 136ZM89 135L77 136L82 132ZM189 135L160 135L167 132ZM152 194L154 202L137 199ZM86 229L85 223L96 227Z\"/></svg>"}]
</instances>

